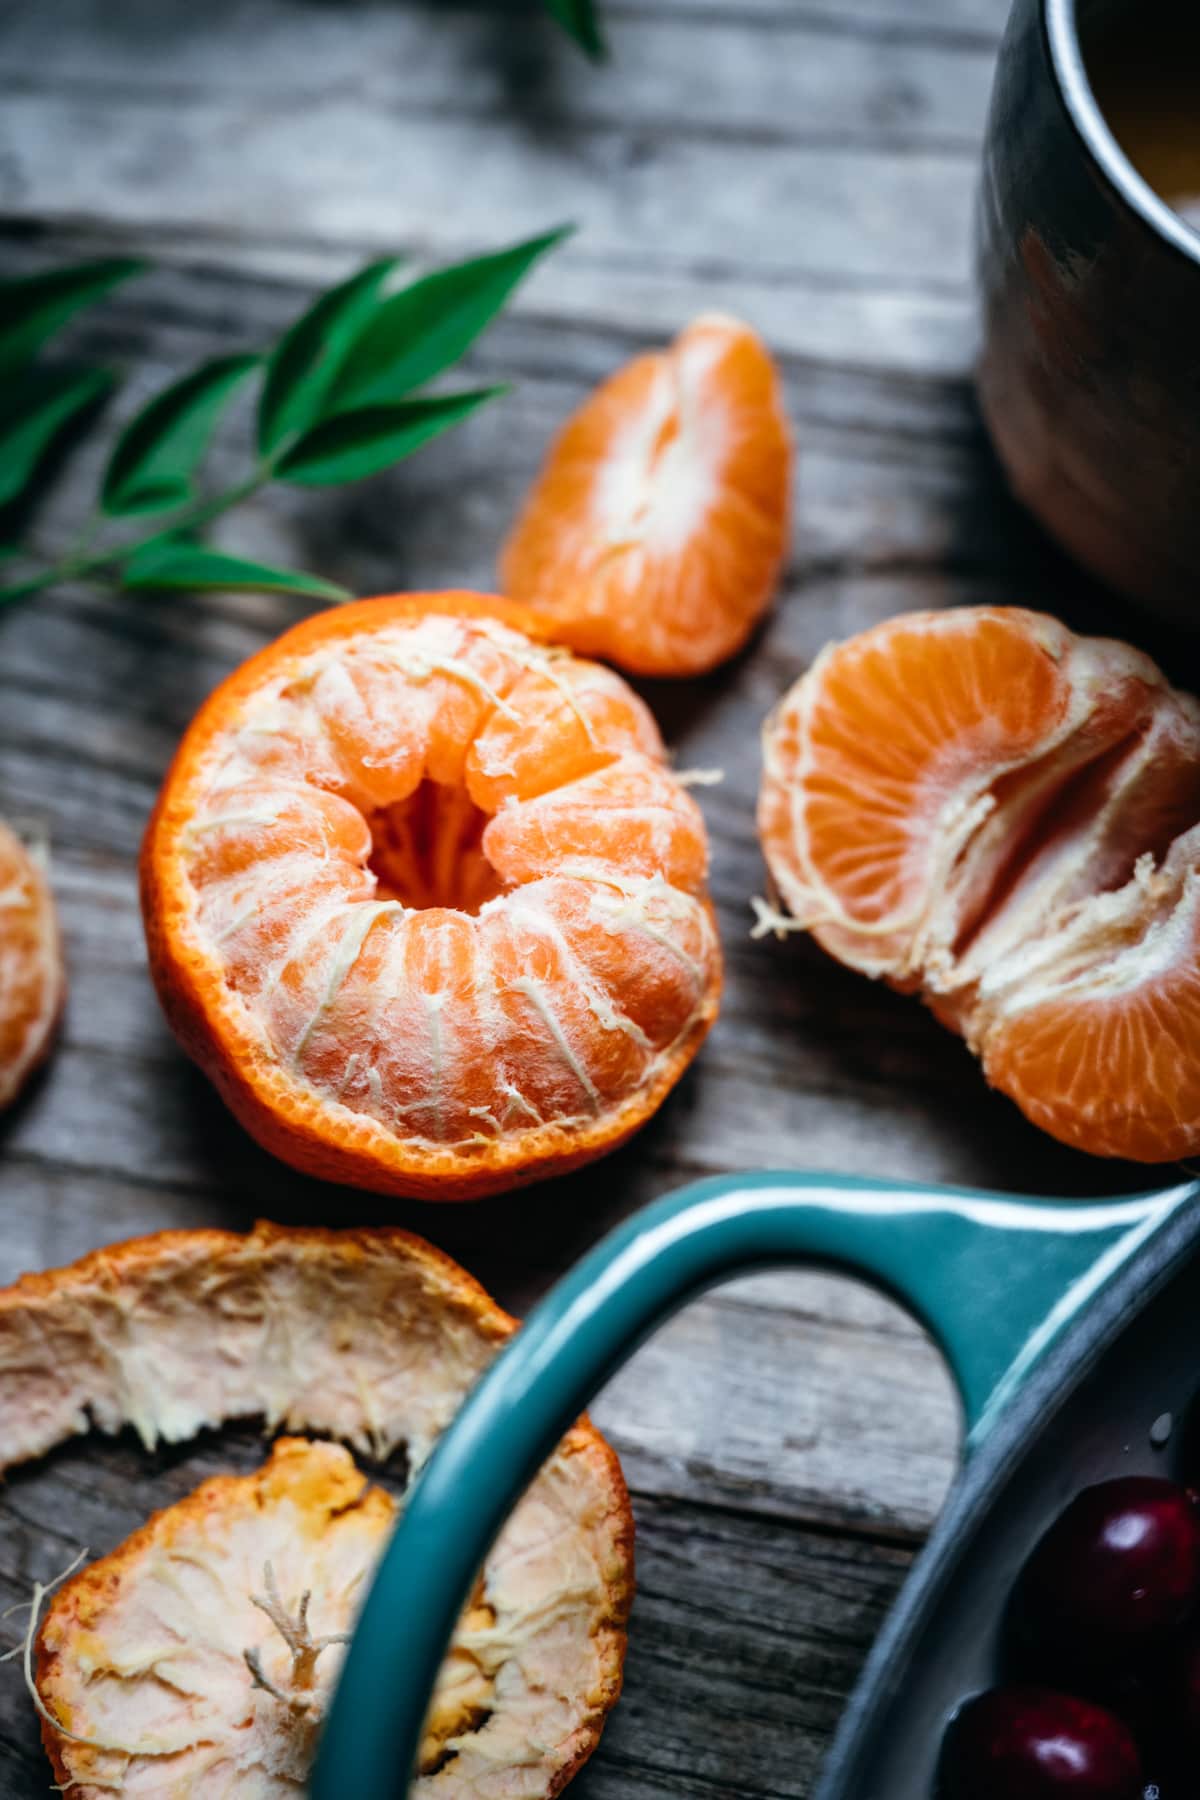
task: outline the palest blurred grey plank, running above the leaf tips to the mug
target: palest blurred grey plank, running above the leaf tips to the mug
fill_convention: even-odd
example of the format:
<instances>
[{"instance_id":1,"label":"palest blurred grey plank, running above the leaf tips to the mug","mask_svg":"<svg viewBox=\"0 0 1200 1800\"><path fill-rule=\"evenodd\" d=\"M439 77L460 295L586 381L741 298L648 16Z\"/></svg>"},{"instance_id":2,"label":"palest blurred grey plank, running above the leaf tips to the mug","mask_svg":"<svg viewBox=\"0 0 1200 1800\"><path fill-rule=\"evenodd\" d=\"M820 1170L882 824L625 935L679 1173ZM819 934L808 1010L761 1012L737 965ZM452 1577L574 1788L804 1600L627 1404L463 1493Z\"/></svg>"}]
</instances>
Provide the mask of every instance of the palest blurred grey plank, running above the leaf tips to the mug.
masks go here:
<instances>
[{"instance_id":1,"label":"palest blurred grey plank, running above the leaf tips to the mug","mask_svg":"<svg viewBox=\"0 0 1200 1800\"><path fill-rule=\"evenodd\" d=\"M968 279L975 166L963 155L642 142L610 126L563 157L552 137L515 140L507 121L387 117L336 90L279 110L221 94L180 110L151 92L122 110L121 131L86 99L18 92L0 144L11 220L103 214L437 254L493 241L498 220L507 236L578 220L579 245L529 290L542 310L563 268L599 281L628 259L847 284Z\"/></svg>"}]
</instances>

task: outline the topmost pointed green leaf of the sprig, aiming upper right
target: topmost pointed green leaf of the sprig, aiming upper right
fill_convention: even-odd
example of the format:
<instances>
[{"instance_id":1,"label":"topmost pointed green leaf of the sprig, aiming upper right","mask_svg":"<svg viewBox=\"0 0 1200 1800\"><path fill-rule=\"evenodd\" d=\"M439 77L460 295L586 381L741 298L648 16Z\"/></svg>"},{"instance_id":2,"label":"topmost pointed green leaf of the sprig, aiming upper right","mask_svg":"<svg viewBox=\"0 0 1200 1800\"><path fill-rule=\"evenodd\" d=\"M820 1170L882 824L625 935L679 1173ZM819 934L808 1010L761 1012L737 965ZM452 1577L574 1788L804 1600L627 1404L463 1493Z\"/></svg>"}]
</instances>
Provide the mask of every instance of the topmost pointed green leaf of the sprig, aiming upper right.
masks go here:
<instances>
[{"instance_id":1,"label":"topmost pointed green leaf of the sprig, aiming upper right","mask_svg":"<svg viewBox=\"0 0 1200 1800\"><path fill-rule=\"evenodd\" d=\"M383 301L333 383L329 414L392 405L423 387L475 342L533 265L570 225L470 263L435 268Z\"/></svg>"}]
</instances>

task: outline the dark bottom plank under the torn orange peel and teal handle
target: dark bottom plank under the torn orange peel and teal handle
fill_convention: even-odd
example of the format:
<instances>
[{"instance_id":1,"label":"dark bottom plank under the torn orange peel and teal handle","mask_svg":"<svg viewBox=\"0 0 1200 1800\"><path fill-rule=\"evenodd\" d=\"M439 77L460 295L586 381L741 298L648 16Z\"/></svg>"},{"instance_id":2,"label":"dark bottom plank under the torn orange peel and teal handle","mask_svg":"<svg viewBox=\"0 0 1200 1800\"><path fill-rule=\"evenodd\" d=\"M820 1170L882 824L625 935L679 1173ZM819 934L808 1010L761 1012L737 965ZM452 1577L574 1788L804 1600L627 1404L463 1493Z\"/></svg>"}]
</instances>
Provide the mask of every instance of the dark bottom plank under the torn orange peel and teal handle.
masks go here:
<instances>
[{"instance_id":1,"label":"dark bottom plank under the torn orange peel and teal handle","mask_svg":"<svg viewBox=\"0 0 1200 1800\"><path fill-rule=\"evenodd\" d=\"M0 1606L29 1598L31 1580L52 1579L83 1544L103 1553L146 1510L261 1458L261 1438L227 1431L153 1456L126 1438L70 1445L18 1471L0 1496ZM639 1600L626 1694L572 1793L806 1793L909 1553L653 1494L635 1492L633 1505ZM18 1629L9 1622L7 1642ZM47 1789L38 1721L11 1665L0 1669L0 1778L7 1800Z\"/></svg>"}]
</instances>

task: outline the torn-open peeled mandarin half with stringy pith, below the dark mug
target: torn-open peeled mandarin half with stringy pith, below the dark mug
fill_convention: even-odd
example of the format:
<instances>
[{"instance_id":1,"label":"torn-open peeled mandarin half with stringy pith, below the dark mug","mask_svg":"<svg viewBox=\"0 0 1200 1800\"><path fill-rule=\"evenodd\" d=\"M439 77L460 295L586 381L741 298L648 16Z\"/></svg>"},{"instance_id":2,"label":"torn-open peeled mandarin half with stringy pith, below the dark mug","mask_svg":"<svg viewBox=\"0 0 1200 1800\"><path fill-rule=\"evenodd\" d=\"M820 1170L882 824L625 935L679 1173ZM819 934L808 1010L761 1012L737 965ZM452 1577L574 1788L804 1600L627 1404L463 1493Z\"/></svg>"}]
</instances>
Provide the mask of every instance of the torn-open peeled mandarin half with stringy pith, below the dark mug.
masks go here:
<instances>
[{"instance_id":1,"label":"torn-open peeled mandarin half with stringy pith, below the dark mug","mask_svg":"<svg viewBox=\"0 0 1200 1800\"><path fill-rule=\"evenodd\" d=\"M826 650L763 758L795 925L919 992L1063 1143L1200 1147L1200 706L1148 657L1018 607L907 614Z\"/></svg>"}]
</instances>

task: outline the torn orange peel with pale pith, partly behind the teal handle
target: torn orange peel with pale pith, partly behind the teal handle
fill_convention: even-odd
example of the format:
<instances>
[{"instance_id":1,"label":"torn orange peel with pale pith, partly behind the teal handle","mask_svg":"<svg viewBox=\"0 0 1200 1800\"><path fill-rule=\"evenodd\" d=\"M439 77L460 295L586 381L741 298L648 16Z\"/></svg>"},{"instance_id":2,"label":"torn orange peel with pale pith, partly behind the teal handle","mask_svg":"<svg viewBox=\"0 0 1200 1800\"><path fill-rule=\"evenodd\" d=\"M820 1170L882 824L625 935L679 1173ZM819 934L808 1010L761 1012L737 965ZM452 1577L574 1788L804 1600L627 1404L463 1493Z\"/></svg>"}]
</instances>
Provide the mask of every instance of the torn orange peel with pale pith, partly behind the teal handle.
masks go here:
<instances>
[{"instance_id":1,"label":"torn orange peel with pale pith, partly behind the teal handle","mask_svg":"<svg viewBox=\"0 0 1200 1800\"><path fill-rule=\"evenodd\" d=\"M0 1292L0 1444L13 1463L92 1420L153 1444L264 1415L378 1456L407 1445L419 1469L515 1328L403 1231L160 1233ZM353 1627L392 1516L345 1449L281 1440L74 1577L36 1656L59 1780L81 1800L302 1791L340 1665L327 1640ZM631 1588L621 1467L585 1418L488 1557L414 1791L560 1793L621 1692Z\"/></svg>"}]
</instances>

